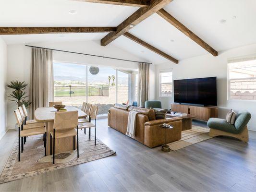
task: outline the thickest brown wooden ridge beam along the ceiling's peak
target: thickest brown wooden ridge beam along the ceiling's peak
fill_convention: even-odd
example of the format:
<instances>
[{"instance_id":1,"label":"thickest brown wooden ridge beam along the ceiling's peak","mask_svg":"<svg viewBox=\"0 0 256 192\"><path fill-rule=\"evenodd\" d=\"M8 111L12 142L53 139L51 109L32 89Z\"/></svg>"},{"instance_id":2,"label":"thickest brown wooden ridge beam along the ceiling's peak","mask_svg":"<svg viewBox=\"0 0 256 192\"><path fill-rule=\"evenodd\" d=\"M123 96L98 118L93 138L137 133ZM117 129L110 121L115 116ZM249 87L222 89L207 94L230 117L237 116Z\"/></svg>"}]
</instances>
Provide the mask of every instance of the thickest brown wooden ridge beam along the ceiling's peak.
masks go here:
<instances>
[{"instance_id":1,"label":"thickest brown wooden ridge beam along the ceiling's peak","mask_svg":"<svg viewBox=\"0 0 256 192\"><path fill-rule=\"evenodd\" d=\"M117 37L122 36L124 33L129 31L132 28L130 25L139 24L150 15L158 12L158 10L162 9L171 1L172 0L151 0L151 4L149 6L138 9L130 17L124 20L121 24L119 24L115 32L111 32L107 36L103 37L101 39L101 45L108 45Z\"/></svg>"}]
</instances>

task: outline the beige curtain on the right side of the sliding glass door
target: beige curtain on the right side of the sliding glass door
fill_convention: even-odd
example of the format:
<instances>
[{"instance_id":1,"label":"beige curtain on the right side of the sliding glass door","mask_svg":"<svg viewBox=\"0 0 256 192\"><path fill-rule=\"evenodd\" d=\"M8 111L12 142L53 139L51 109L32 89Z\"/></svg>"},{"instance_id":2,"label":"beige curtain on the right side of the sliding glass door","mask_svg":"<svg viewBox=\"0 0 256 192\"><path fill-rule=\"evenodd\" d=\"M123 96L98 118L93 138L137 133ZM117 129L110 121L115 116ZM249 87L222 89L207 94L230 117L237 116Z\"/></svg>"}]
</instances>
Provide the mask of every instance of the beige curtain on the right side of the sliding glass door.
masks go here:
<instances>
[{"instance_id":1,"label":"beige curtain on the right side of the sliding glass door","mask_svg":"<svg viewBox=\"0 0 256 192\"><path fill-rule=\"evenodd\" d=\"M138 106L145 107L149 92L149 64L139 63Z\"/></svg>"}]
</instances>

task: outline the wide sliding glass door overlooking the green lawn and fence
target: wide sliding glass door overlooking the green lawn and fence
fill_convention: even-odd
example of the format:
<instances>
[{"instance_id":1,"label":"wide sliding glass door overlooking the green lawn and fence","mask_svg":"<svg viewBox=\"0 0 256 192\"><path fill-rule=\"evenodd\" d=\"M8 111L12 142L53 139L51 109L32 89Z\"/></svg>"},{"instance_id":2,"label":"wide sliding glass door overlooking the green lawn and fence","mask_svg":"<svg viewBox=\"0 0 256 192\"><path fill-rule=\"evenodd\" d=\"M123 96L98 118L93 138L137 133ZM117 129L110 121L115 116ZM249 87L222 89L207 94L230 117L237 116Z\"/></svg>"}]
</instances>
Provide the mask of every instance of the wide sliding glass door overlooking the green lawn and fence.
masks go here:
<instances>
[{"instance_id":1,"label":"wide sliding glass door overlooking the green lawn and fence","mask_svg":"<svg viewBox=\"0 0 256 192\"><path fill-rule=\"evenodd\" d=\"M64 105L81 107L88 102L99 106L98 114L107 114L115 103L130 103L131 90L135 91L133 71L62 62L54 62L53 67L54 100Z\"/></svg>"}]
</instances>

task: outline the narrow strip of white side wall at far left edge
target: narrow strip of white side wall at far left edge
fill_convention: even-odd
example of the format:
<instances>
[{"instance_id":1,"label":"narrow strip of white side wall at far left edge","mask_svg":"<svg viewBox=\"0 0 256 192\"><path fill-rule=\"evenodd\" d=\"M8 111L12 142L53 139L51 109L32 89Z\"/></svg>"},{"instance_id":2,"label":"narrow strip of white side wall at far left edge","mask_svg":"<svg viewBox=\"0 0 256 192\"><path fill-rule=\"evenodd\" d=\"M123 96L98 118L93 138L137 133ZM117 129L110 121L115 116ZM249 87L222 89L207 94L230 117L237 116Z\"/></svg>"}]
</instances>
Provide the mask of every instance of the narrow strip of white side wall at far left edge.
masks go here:
<instances>
[{"instance_id":1,"label":"narrow strip of white side wall at far left edge","mask_svg":"<svg viewBox=\"0 0 256 192\"><path fill-rule=\"evenodd\" d=\"M7 131L6 124L7 46L0 37L0 139Z\"/></svg>"}]
</instances>

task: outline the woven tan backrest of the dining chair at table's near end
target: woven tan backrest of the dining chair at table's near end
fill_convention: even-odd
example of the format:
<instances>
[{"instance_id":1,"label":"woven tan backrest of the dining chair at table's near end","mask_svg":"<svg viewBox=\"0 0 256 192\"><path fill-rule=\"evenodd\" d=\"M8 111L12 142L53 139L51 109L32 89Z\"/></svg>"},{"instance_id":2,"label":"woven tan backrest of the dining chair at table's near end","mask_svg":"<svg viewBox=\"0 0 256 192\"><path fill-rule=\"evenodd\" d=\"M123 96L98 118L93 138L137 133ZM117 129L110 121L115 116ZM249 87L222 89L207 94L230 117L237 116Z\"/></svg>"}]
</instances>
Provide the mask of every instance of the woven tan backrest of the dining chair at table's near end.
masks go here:
<instances>
[{"instance_id":1,"label":"woven tan backrest of the dining chair at table's near end","mask_svg":"<svg viewBox=\"0 0 256 192\"><path fill-rule=\"evenodd\" d=\"M58 130L74 129L78 125L78 111L56 112L53 128Z\"/></svg>"}]
</instances>

